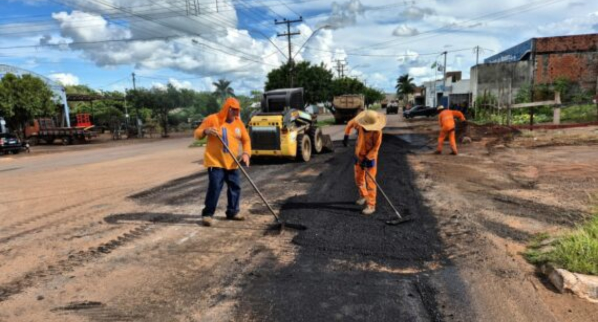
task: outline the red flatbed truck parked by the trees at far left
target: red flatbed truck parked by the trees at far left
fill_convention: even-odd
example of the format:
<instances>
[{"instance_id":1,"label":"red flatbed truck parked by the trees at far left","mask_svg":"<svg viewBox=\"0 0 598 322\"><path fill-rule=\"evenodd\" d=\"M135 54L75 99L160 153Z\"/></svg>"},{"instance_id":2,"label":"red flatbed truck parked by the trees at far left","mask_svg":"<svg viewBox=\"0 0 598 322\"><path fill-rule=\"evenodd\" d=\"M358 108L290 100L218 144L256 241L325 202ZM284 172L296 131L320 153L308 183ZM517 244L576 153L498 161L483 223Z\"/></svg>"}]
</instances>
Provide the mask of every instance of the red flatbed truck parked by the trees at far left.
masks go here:
<instances>
[{"instance_id":1,"label":"red flatbed truck parked by the trees at far left","mask_svg":"<svg viewBox=\"0 0 598 322\"><path fill-rule=\"evenodd\" d=\"M96 132L91 130L93 127L89 114L77 114L75 127L57 127L54 119L38 118L25 127L25 139L29 145L37 145L41 141L53 144L56 139L61 140L63 145L87 143L92 137L97 136Z\"/></svg>"}]
</instances>

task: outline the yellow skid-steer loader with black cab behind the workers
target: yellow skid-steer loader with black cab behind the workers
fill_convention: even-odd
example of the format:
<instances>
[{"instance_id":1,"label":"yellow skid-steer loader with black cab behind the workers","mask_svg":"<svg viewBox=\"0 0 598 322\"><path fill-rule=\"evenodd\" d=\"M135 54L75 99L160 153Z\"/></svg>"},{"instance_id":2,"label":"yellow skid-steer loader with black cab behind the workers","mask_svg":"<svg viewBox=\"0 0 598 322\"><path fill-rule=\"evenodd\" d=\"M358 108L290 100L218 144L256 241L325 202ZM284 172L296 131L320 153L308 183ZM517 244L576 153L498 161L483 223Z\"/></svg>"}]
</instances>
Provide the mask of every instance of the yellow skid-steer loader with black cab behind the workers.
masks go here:
<instances>
[{"instance_id":1,"label":"yellow skid-steer loader with black cab behind the workers","mask_svg":"<svg viewBox=\"0 0 598 322\"><path fill-rule=\"evenodd\" d=\"M305 111L303 88L263 94L260 111L248 123L253 157L281 157L307 162L312 154L332 151L330 136Z\"/></svg>"}]
</instances>

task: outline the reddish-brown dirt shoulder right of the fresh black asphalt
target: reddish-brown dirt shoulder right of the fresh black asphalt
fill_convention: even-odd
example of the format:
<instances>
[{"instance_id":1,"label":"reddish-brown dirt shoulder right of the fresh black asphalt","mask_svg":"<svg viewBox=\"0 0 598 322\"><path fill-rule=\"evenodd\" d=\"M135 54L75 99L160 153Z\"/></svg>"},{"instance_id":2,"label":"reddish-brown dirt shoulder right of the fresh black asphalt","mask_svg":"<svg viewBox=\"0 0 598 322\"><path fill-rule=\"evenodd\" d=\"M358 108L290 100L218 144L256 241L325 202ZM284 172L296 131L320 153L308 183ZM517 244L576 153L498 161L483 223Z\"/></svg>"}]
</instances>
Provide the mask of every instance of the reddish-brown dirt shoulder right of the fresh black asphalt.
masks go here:
<instances>
[{"instance_id":1,"label":"reddish-brown dirt shoulder right of the fresh black asphalt","mask_svg":"<svg viewBox=\"0 0 598 322\"><path fill-rule=\"evenodd\" d=\"M433 139L432 125L405 123ZM409 161L480 320L592 320L595 305L557 293L521 252L534 234L562 232L590 213L598 193L597 128L474 127L466 134L472 143L459 145L457 157L447 155L448 146L445 155L432 155L432 140L430 152Z\"/></svg>"}]
</instances>

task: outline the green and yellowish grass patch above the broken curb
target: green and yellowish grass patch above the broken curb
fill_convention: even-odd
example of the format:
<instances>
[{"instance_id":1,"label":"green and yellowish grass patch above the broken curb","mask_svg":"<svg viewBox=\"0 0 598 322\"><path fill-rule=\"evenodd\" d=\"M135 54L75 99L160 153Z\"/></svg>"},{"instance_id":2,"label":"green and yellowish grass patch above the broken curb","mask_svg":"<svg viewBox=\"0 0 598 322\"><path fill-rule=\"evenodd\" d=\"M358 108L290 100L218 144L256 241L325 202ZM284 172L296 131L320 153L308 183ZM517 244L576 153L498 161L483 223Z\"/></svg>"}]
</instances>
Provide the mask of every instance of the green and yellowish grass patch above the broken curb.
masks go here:
<instances>
[{"instance_id":1,"label":"green and yellowish grass patch above the broken curb","mask_svg":"<svg viewBox=\"0 0 598 322\"><path fill-rule=\"evenodd\" d=\"M551 263L568 271L598 275L598 214L583 225L550 243L546 234L537 235L524 257L534 264Z\"/></svg>"}]
</instances>

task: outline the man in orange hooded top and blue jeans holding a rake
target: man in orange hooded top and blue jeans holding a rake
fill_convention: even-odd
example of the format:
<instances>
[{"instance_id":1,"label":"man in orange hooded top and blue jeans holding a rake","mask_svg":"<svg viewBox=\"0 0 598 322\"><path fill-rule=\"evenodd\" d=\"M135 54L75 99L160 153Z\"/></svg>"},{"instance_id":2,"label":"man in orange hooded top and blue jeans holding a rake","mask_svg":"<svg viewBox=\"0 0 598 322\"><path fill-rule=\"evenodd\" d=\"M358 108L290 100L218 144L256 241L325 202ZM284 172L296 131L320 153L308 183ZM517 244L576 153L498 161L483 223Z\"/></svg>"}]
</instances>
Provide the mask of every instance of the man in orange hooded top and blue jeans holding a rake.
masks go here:
<instances>
[{"instance_id":1,"label":"man in orange hooded top and blue jeans holding a rake","mask_svg":"<svg viewBox=\"0 0 598 322\"><path fill-rule=\"evenodd\" d=\"M241 150L242 161L249 167L251 140L245 125L239 118L240 111L239 101L229 97L222 105L221 111L204 119L194 133L196 139L208 136L203 157L203 165L208 168L209 180L205 207L202 210L204 226L212 225L212 217L218 206L218 198L224 183L227 184L227 219L245 220L245 217L239 213L241 198L239 168L218 138L218 136L222 138L234 155L238 155Z\"/></svg>"}]
</instances>

